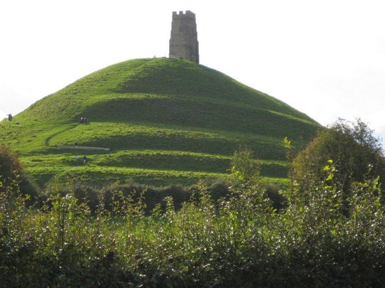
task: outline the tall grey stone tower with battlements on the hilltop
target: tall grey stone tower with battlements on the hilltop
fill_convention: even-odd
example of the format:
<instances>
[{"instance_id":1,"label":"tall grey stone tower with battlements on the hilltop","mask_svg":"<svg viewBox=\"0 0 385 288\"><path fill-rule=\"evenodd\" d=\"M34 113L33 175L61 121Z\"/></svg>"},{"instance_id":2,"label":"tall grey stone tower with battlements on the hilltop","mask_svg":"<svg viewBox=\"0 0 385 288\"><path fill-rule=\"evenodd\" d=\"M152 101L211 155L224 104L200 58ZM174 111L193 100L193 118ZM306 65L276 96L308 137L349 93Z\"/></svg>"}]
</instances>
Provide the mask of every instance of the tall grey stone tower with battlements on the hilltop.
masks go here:
<instances>
[{"instance_id":1,"label":"tall grey stone tower with battlements on the hilltop","mask_svg":"<svg viewBox=\"0 0 385 288\"><path fill-rule=\"evenodd\" d=\"M190 60L199 64L197 23L191 11L173 12L170 38L170 58Z\"/></svg>"}]
</instances>

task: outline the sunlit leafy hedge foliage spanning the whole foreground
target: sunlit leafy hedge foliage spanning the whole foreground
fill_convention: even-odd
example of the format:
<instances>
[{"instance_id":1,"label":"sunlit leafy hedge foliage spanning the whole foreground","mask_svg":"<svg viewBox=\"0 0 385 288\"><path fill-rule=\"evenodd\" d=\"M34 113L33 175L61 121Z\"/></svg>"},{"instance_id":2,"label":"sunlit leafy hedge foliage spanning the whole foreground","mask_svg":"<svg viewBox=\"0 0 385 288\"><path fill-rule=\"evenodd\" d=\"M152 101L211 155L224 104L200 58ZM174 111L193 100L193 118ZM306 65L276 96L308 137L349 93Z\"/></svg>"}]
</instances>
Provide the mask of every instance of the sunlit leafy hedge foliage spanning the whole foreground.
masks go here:
<instances>
[{"instance_id":1,"label":"sunlit leafy hedge foliage spanning the whole foreground","mask_svg":"<svg viewBox=\"0 0 385 288\"><path fill-rule=\"evenodd\" d=\"M119 191L92 215L72 191L26 208L17 186L0 195L0 282L7 287L379 287L385 281L385 216L376 178L354 182L349 213L331 162L307 193L282 191L272 208L257 179L213 201L200 185L175 210L145 215ZM199 200L196 200L199 199ZM349 217L347 216L349 215Z\"/></svg>"}]
</instances>

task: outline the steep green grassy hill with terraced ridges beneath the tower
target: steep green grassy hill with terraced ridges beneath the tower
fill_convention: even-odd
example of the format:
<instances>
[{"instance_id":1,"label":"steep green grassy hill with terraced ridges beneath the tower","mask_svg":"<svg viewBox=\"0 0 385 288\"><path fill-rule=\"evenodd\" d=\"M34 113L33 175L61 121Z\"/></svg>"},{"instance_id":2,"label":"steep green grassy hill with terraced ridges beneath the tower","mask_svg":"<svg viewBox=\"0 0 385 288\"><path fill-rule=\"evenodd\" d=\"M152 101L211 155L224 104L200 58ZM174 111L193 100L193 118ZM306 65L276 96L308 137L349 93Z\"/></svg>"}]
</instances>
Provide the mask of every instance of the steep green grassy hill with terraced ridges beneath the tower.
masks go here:
<instances>
[{"instance_id":1,"label":"steep green grassy hill with terraced ridges beneath the tower","mask_svg":"<svg viewBox=\"0 0 385 288\"><path fill-rule=\"evenodd\" d=\"M300 146L320 127L216 70L168 58L98 70L0 125L1 143L19 152L41 187L67 178L96 185L128 179L190 184L227 176L240 145L255 151L262 176L281 181L287 173L284 137ZM76 142L78 149L60 148ZM85 165L76 159L83 155Z\"/></svg>"}]
</instances>

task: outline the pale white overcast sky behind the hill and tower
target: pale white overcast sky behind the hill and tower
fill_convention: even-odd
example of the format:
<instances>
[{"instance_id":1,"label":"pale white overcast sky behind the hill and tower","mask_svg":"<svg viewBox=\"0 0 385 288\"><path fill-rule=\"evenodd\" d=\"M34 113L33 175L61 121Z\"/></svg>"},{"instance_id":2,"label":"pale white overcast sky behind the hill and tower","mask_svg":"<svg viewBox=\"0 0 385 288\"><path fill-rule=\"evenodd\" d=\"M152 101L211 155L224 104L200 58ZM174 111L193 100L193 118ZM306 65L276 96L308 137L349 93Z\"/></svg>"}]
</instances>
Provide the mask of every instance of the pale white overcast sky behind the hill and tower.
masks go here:
<instances>
[{"instance_id":1,"label":"pale white overcast sky behind the hill and tower","mask_svg":"<svg viewBox=\"0 0 385 288\"><path fill-rule=\"evenodd\" d=\"M172 12L190 10L200 64L324 126L360 118L385 139L381 2L1 1L0 119L108 65L168 57Z\"/></svg>"}]
</instances>

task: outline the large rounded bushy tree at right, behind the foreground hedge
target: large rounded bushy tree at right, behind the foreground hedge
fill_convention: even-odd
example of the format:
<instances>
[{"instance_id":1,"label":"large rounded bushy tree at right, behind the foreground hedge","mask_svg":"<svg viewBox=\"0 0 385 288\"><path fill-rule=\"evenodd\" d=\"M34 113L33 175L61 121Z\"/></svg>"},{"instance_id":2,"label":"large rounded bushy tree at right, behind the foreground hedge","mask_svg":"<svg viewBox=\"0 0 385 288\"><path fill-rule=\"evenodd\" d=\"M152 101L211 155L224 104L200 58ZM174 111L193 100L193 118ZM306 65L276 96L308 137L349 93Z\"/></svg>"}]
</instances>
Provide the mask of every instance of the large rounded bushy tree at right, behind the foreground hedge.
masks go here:
<instances>
[{"instance_id":1,"label":"large rounded bushy tree at right, behind the foreground hedge","mask_svg":"<svg viewBox=\"0 0 385 288\"><path fill-rule=\"evenodd\" d=\"M357 119L339 119L324 129L292 163L292 179L300 190L306 190L324 176L323 168L332 160L334 184L345 200L354 182L364 182L379 176L385 183L385 158L379 139L373 130Z\"/></svg>"}]
</instances>

